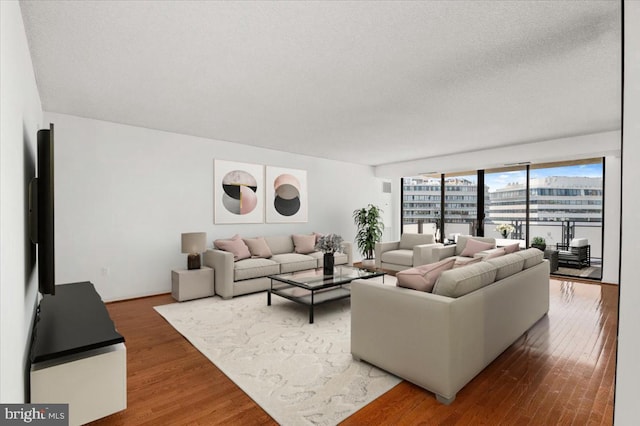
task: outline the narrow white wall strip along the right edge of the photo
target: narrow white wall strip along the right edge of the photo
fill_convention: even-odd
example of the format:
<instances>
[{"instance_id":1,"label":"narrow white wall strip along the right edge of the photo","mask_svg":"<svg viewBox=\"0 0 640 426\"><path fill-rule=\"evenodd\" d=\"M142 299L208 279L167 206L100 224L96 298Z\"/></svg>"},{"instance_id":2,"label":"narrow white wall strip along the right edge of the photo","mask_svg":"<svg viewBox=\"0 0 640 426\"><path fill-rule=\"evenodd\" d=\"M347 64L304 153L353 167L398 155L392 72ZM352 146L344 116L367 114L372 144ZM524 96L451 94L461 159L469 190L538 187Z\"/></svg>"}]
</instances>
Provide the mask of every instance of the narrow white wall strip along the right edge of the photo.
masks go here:
<instances>
[{"instance_id":1,"label":"narrow white wall strip along the right edge of the photo","mask_svg":"<svg viewBox=\"0 0 640 426\"><path fill-rule=\"evenodd\" d=\"M622 255L618 363L614 423L638 424L640 383L640 284L638 283L638 182L640 182L640 2L624 2L624 124L622 160Z\"/></svg>"}]
</instances>

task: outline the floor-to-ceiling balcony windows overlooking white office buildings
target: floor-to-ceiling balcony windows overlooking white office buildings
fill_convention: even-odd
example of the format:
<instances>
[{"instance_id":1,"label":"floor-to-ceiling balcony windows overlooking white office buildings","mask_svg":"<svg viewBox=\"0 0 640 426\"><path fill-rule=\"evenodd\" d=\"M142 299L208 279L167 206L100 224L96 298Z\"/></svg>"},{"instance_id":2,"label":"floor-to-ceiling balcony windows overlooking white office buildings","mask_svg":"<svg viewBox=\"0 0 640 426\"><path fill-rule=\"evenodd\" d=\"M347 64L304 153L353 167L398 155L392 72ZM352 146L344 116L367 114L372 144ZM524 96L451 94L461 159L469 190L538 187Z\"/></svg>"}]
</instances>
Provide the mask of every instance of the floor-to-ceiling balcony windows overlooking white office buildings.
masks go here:
<instances>
[{"instance_id":1,"label":"floor-to-ceiling balcony windows overlooking white office buildings","mask_svg":"<svg viewBox=\"0 0 640 426\"><path fill-rule=\"evenodd\" d=\"M518 240L523 247L541 237L558 250L571 250L572 241L580 238L589 246L589 266L565 265L557 273L602 277L601 158L405 177L402 182L403 232L433 232L439 240L485 235ZM506 237L498 230L501 224L510 225Z\"/></svg>"}]
</instances>

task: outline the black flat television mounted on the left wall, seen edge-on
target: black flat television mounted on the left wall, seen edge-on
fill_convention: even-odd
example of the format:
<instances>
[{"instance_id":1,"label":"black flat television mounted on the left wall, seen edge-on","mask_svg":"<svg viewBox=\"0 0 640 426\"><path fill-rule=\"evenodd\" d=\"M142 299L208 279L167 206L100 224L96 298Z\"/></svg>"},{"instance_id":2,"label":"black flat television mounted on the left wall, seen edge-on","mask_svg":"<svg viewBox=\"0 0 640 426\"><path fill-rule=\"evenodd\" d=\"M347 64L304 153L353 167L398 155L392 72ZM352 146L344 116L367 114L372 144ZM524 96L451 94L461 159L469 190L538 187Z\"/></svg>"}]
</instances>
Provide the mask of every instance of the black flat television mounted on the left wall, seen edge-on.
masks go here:
<instances>
[{"instance_id":1,"label":"black flat television mounted on the left wall, seen edge-on","mask_svg":"<svg viewBox=\"0 0 640 426\"><path fill-rule=\"evenodd\" d=\"M53 123L38 130L37 176L29 185L31 241L38 245L38 291L54 295L55 223L53 173Z\"/></svg>"}]
</instances>

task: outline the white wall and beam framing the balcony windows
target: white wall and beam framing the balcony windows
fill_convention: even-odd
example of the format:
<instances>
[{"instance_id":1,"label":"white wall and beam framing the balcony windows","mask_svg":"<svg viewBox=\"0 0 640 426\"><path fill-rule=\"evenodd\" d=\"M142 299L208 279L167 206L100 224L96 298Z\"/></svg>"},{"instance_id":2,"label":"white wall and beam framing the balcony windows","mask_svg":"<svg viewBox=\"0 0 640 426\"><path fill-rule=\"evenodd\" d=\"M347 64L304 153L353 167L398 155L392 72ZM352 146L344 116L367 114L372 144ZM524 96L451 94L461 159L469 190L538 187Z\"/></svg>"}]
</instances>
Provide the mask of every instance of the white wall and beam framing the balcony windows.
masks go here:
<instances>
[{"instance_id":1,"label":"white wall and beam framing the balcony windows","mask_svg":"<svg viewBox=\"0 0 640 426\"><path fill-rule=\"evenodd\" d=\"M493 148L472 153L425 158L403 163L394 163L375 168L375 175L393 180L394 191L393 231L400 236L400 178L423 172L457 172L504 167L505 164L530 161L532 163L575 160L580 158L605 157L605 222L606 238L602 253L602 281L618 284L620 259L620 131L595 133L584 136Z\"/></svg>"}]
</instances>

